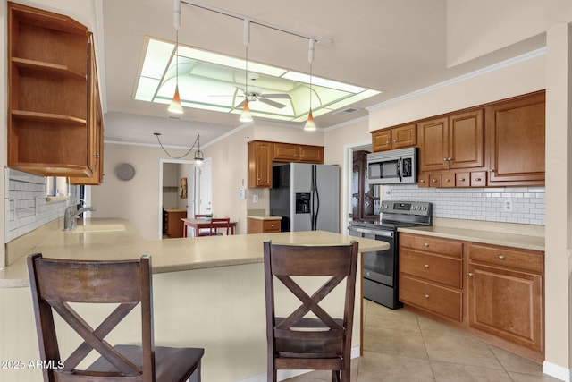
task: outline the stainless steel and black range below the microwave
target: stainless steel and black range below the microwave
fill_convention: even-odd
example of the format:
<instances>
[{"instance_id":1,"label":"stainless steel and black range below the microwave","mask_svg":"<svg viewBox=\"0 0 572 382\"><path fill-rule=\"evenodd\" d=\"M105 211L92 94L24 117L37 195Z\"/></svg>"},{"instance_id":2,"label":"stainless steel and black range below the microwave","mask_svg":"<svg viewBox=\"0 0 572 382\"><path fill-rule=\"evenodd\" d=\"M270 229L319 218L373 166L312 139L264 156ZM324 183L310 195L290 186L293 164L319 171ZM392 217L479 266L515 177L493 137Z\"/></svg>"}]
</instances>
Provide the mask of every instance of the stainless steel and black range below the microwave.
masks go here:
<instances>
[{"instance_id":1,"label":"stainless steel and black range below the microwave","mask_svg":"<svg viewBox=\"0 0 572 382\"><path fill-rule=\"evenodd\" d=\"M399 227L431 225L433 205L420 201L383 201L380 220L352 221L349 234L381 240L389 250L366 252L364 257L364 297L391 309L402 306L399 301Z\"/></svg>"}]
</instances>

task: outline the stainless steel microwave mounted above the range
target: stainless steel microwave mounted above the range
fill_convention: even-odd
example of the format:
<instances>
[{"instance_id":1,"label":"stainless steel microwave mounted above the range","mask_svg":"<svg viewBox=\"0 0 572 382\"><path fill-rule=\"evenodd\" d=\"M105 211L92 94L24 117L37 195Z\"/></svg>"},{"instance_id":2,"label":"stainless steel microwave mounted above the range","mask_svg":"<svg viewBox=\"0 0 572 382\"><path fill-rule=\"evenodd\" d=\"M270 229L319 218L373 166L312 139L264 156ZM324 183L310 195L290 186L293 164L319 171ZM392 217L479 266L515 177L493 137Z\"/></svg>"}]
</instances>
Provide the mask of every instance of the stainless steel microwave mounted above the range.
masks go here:
<instances>
[{"instance_id":1,"label":"stainless steel microwave mounted above the range","mask_svg":"<svg viewBox=\"0 0 572 382\"><path fill-rule=\"evenodd\" d=\"M369 184L417 182L417 148L397 149L367 155Z\"/></svg>"}]
</instances>

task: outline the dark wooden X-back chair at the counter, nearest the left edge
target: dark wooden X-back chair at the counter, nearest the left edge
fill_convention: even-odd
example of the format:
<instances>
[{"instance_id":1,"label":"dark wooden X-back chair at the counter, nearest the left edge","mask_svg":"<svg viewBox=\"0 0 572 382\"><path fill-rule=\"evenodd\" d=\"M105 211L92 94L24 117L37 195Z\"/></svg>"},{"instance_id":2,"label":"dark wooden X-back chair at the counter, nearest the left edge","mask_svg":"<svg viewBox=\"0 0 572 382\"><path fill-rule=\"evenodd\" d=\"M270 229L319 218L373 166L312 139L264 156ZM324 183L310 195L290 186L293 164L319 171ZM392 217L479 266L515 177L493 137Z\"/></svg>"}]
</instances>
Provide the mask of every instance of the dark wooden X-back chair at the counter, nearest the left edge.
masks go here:
<instances>
[{"instance_id":1,"label":"dark wooden X-back chair at the counter, nearest the left edge","mask_svg":"<svg viewBox=\"0 0 572 382\"><path fill-rule=\"evenodd\" d=\"M29 281L38 332L44 382L182 382L200 381L201 348L160 347L154 344L151 259L72 261L29 255ZM75 302L113 303L112 313L97 327L74 310ZM105 340L140 304L141 345ZM83 304L81 304L83 305ZM83 339L67 359L60 355L54 310ZM78 368L92 350L100 357Z\"/></svg>"}]
</instances>

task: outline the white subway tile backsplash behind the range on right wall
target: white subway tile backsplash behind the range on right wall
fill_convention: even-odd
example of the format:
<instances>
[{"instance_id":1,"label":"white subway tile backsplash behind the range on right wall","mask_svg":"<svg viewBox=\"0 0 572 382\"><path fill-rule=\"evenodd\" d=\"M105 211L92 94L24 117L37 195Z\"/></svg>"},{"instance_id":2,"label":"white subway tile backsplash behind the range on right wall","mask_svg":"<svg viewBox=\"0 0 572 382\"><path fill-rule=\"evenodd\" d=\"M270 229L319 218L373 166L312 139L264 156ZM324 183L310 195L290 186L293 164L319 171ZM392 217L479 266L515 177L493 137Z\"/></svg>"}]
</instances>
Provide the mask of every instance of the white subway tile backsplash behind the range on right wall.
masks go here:
<instances>
[{"instance_id":1,"label":"white subway tile backsplash behind the range on right wall","mask_svg":"<svg viewBox=\"0 0 572 382\"><path fill-rule=\"evenodd\" d=\"M544 225L544 187L418 188L385 185L383 200L433 202L433 216Z\"/></svg>"}]
</instances>

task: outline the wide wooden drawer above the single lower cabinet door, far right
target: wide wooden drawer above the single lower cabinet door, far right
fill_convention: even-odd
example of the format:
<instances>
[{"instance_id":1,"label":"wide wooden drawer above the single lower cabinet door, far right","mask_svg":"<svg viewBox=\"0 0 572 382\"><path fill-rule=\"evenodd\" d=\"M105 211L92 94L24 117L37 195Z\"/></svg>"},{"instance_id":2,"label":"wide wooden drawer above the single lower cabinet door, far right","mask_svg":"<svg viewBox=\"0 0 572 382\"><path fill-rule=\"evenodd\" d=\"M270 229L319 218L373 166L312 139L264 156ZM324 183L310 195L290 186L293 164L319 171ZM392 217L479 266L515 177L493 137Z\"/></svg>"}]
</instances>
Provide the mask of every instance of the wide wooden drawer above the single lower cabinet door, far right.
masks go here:
<instances>
[{"instance_id":1,"label":"wide wooden drawer above the single lower cabinet door, far right","mask_svg":"<svg viewBox=\"0 0 572 382\"><path fill-rule=\"evenodd\" d=\"M543 252L537 251L471 243L468 246L468 257L471 261L482 261L501 267L514 267L537 273L543 273L544 269Z\"/></svg>"}]
</instances>

